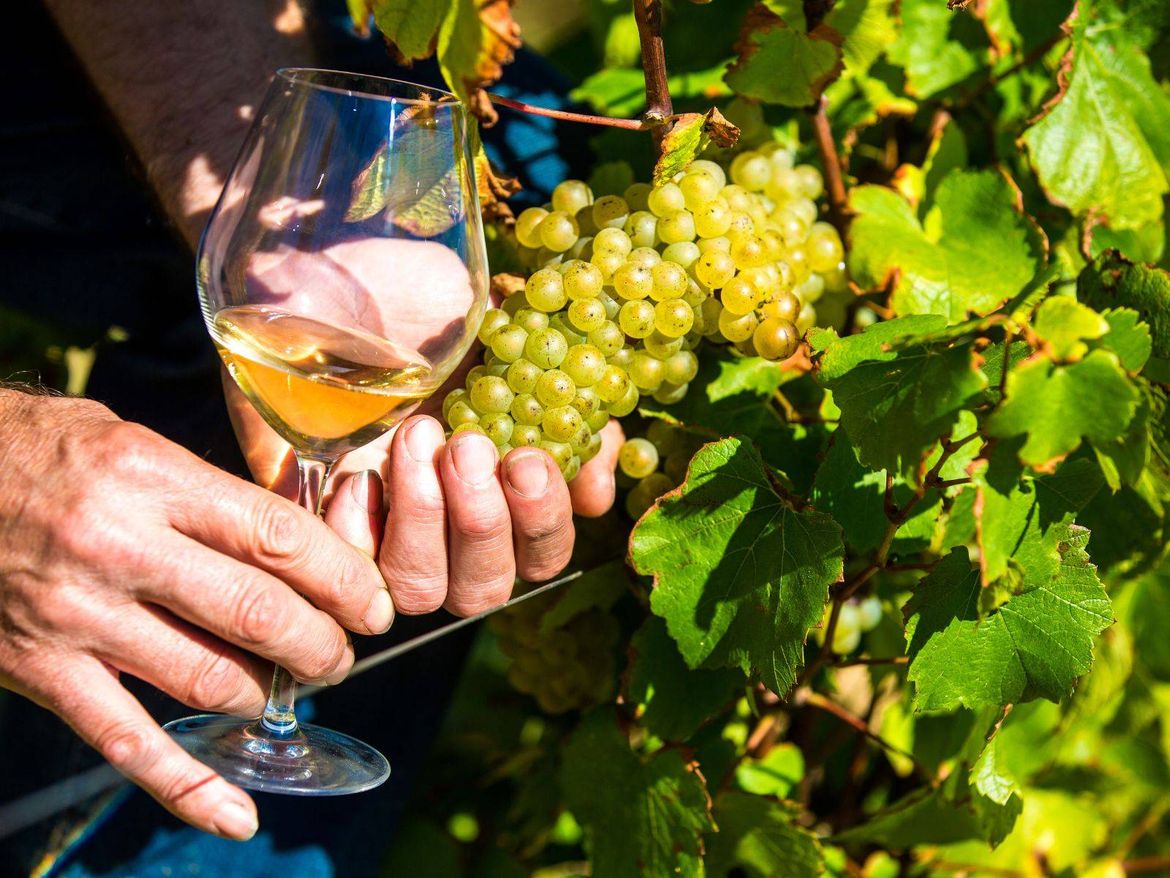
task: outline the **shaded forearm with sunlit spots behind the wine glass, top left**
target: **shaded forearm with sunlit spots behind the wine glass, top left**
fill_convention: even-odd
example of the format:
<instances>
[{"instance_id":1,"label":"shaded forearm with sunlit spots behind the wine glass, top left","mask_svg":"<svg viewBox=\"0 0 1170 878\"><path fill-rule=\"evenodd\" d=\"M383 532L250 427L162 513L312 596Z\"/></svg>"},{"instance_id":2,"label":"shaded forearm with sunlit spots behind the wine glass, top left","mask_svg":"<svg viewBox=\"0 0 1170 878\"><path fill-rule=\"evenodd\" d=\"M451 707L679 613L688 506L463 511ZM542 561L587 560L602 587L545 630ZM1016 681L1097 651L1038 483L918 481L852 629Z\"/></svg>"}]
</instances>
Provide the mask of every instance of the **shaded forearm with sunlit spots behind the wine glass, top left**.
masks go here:
<instances>
[{"instance_id":1,"label":"shaded forearm with sunlit spots behind the wine glass, top left","mask_svg":"<svg viewBox=\"0 0 1170 878\"><path fill-rule=\"evenodd\" d=\"M312 62L295 0L46 0L194 247L277 67Z\"/></svg>"}]
</instances>

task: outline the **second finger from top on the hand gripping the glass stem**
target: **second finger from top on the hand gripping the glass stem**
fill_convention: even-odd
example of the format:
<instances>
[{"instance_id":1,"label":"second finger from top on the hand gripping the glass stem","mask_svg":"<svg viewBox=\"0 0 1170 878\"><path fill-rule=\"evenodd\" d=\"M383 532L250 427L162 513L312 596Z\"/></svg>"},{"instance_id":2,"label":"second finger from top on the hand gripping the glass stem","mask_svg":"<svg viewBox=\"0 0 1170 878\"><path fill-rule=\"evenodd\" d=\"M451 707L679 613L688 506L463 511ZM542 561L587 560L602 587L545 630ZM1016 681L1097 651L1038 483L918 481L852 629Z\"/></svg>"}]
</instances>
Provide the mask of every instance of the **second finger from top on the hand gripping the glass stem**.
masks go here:
<instances>
[{"instance_id":1,"label":"second finger from top on the hand gripping the glass stem","mask_svg":"<svg viewBox=\"0 0 1170 878\"><path fill-rule=\"evenodd\" d=\"M283 582L198 543L176 540L143 599L283 665L298 680L339 682L353 665L345 632Z\"/></svg>"}]
</instances>

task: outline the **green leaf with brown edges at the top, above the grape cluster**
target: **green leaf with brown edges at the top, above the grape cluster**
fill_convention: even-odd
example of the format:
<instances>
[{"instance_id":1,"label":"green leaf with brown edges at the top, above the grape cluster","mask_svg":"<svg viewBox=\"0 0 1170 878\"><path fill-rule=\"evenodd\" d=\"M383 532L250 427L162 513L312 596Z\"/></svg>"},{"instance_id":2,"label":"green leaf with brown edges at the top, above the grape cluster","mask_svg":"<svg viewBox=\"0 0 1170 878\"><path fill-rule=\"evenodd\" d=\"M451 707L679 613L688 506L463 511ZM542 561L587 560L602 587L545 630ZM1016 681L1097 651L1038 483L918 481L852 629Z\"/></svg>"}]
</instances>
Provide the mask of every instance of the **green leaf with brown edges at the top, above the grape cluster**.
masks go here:
<instances>
[{"instance_id":1,"label":"green leaf with brown edges at the top, above the grape cluster","mask_svg":"<svg viewBox=\"0 0 1170 878\"><path fill-rule=\"evenodd\" d=\"M841 35L825 23L805 33L764 4L748 11L725 80L737 94L765 103L808 107L841 75Z\"/></svg>"}]
</instances>

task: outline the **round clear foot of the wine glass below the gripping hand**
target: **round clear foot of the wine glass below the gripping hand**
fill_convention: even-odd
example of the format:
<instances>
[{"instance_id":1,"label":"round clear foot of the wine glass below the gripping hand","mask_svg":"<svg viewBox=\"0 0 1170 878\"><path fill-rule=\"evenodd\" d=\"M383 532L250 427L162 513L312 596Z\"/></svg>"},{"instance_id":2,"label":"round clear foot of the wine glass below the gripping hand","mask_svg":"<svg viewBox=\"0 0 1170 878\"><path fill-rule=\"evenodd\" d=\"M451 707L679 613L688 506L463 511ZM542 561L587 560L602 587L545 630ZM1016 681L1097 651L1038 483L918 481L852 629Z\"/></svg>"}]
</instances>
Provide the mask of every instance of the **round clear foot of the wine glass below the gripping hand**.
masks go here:
<instances>
[{"instance_id":1,"label":"round clear foot of the wine glass below the gripping hand","mask_svg":"<svg viewBox=\"0 0 1170 878\"><path fill-rule=\"evenodd\" d=\"M303 723L275 735L259 720L208 713L163 728L226 781L261 793L344 796L390 777L390 762L373 747L321 726Z\"/></svg>"}]
</instances>

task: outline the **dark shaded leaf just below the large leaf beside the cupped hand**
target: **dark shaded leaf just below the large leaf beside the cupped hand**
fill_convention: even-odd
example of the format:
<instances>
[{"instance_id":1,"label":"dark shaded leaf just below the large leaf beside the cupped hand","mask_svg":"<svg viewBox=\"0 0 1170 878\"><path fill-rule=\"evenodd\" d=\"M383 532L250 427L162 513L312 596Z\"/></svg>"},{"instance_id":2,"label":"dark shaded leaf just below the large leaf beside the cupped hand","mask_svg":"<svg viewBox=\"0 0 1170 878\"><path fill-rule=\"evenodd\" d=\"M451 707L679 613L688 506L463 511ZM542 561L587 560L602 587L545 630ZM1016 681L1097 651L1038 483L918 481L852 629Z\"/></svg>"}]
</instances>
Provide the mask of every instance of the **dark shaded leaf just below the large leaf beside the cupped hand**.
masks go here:
<instances>
[{"instance_id":1,"label":"dark shaded leaf just below the large leaf beside the cupped hand","mask_svg":"<svg viewBox=\"0 0 1170 878\"><path fill-rule=\"evenodd\" d=\"M655 616L638 629L629 650L628 700L642 706L641 723L667 741L689 739L744 685L738 671L688 668L666 623Z\"/></svg>"}]
</instances>

